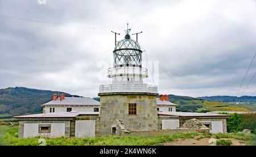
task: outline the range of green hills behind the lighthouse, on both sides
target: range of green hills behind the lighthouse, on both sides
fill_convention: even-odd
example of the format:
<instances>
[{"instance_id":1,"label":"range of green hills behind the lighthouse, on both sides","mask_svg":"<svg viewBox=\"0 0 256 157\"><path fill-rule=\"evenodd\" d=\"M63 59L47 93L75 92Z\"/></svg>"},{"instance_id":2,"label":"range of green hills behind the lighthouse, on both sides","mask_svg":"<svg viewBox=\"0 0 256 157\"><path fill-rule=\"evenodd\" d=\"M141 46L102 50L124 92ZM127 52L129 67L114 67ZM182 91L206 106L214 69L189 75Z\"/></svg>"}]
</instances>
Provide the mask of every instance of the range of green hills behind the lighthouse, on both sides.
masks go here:
<instances>
[{"instance_id":1,"label":"range of green hills behind the lighthouse, on both sides","mask_svg":"<svg viewBox=\"0 0 256 157\"><path fill-rule=\"evenodd\" d=\"M0 89L0 119L11 118L16 115L42 113L40 104L52 100L52 94L59 91L30 89L24 87ZM60 92L64 93L64 92ZM71 97L69 93L64 93L66 97ZM79 97L79 96L74 96ZM256 97L232 97L232 96L212 96L212 97L187 97L168 95L171 102L179 105L177 111L207 112L216 110L226 111L249 111L256 110ZM100 101L100 97L94 97ZM227 102L237 102L234 104ZM247 102L251 102L248 104Z\"/></svg>"}]
</instances>

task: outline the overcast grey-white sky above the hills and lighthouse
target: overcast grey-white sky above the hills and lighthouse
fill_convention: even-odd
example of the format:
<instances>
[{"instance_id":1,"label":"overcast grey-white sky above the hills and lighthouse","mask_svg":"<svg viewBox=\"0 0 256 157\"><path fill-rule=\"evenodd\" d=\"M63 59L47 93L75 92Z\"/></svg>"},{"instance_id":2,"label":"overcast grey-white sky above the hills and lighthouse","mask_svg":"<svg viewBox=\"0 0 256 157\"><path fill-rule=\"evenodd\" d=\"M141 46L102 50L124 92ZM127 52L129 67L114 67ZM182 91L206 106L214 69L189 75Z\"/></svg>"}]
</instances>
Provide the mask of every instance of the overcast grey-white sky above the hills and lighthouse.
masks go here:
<instances>
[{"instance_id":1,"label":"overcast grey-white sky above the hills and lighthouse","mask_svg":"<svg viewBox=\"0 0 256 157\"><path fill-rule=\"evenodd\" d=\"M158 85L162 94L235 96L256 52L255 0L46 0L41 5L38 0L1 0L0 88L97 96L100 84L111 81L106 77L113 66L111 31L123 39L127 22L132 33L143 31L139 44L148 61L159 63L187 92L159 68L154 81L150 76L145 82ZM255 71L256 59L238 96ZM255 81L245 95L254 93Z\"/></svg>"}]
</instances>

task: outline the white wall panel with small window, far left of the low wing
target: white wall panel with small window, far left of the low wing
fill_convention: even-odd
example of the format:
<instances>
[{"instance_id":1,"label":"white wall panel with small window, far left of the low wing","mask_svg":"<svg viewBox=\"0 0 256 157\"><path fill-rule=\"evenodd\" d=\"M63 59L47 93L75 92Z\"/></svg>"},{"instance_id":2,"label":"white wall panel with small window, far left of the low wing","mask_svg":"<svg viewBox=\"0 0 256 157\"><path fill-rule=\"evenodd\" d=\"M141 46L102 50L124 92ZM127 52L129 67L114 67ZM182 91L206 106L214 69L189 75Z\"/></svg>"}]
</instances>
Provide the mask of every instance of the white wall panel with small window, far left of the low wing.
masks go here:
<instances>
[{"instance_id":1,"label":"white wall panel with small window, far left of the low wing","mask_svg":"<svg viewBox=\"0 0 256 157\"><path fill-rule=\"evenodd\" d=\"M39 133L39 123L24 123L24 138L28 137L61 137L65 135L65 123L40 123L51 125L51 133Z\"/></svg>"}]
</instances>

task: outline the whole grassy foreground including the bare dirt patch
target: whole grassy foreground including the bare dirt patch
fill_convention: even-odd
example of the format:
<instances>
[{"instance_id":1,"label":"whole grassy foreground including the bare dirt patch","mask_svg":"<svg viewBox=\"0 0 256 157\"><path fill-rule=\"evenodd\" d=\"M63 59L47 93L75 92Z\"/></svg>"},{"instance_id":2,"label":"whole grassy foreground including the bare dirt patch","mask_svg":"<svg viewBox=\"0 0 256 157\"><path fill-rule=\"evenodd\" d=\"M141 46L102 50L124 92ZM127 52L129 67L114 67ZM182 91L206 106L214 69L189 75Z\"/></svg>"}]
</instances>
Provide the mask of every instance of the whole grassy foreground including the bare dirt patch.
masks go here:
<instances>
[{"instance_id":1,"label":"whole grassy foreground including the bare dirt patch","mask_svg":"<svg viewBox=\"0 0 256 157\"><path fill-rule=\"evenodd\" d=\"M154 145L209 145L208 139L216 138L217 144L255 145L253 134L209 134L190 132L158 137L109 136L99 138L44 138L47 146L154 146ZM10 146L38 146L39 137L18 138L18 126L0 126L0 144ZM220 141L221 140L221 141ZM194 142L193 142L194 141ZM230 143L231 141L231 143Z\"/></svg>"}]
</instances>

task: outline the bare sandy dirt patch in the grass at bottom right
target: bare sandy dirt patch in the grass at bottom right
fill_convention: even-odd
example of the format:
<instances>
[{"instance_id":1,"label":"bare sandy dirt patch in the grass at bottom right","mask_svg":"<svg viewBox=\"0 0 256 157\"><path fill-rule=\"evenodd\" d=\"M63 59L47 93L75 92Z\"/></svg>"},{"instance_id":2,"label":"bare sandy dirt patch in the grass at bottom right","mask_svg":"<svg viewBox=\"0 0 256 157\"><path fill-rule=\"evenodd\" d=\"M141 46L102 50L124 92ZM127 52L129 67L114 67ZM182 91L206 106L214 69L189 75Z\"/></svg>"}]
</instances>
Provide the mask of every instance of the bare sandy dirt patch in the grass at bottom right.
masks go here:
<instances>
[{"instance_id":1,"label":"bare sandy dirt patch in the grass at bottom right","mask_svg":"<svg viewBox=\"0 0 256 157\"><path fill-rule=\"evenodd\" d=\"M210 146L209 143L210 138L202 138L200 140L197 139L177 139L173 142L166 142L164 146ZM244 141L240 141L237 139L229 139L232 141L232 146L245 146Z\"/></svg>"}]
</instances>

